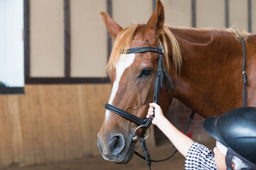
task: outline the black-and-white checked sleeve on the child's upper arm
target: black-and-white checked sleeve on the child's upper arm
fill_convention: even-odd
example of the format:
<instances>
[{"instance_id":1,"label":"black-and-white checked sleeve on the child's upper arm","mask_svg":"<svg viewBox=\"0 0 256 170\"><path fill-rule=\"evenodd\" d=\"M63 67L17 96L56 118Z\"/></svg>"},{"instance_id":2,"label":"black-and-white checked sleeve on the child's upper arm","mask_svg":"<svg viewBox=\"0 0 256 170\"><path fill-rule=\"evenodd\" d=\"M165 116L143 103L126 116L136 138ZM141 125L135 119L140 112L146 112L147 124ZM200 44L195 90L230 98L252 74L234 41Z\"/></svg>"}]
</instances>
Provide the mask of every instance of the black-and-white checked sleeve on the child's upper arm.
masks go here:
<instances>
[{"instance_id":1,"label":"black-and-white checked sleeve on the child's upper arm","mask_svg":"<svg viewBox=\"0 0 256 170\"><path fill-rule=\"evenodd\" d=\"M217 170L213 152L207 147L194 142L188 150L185 160L186 170Z\"/></svg>"}]
</instances>

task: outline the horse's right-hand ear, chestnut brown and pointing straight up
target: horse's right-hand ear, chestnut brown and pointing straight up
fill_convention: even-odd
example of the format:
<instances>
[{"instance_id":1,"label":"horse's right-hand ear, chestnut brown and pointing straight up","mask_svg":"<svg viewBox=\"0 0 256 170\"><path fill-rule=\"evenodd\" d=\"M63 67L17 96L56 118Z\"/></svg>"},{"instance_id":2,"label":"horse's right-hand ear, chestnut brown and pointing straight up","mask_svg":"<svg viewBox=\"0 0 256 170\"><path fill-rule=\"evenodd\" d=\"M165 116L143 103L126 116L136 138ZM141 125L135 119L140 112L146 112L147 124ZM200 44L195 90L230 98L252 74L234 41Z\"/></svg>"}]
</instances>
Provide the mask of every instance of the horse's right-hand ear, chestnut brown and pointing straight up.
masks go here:
<instances>
[{"instance_id":1,"label":"horse's right-hand ear, chestnut brown and pointing straight up","mask_svg":"<svg viewBox=\"0 0 256 170\"><path fill-rule=\"evenodd\" d=\"M146 29L157 37L164 29L164 6L161 4L160 0L156 1L156 9L146 23Z\"/></svg>"}]
</instances>

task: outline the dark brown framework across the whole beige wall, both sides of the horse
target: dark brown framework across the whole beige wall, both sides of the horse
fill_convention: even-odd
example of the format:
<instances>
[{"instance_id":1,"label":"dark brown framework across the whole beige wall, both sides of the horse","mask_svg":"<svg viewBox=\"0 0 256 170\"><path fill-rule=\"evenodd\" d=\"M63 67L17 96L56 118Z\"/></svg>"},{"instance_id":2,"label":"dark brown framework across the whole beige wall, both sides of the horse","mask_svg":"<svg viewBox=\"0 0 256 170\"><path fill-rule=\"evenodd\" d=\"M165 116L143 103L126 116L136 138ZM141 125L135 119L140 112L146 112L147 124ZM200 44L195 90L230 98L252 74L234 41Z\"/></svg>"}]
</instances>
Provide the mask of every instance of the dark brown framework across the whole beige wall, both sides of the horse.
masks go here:
<instances>
[{"instance_id":1,"label":"dark brown framework across the whole beige wall, both sides of the horse","mask_svg":"<svg viewBox=\"0 0 256 170\"><path fill-rule=\"evenodd\" d=\"M64 1L64 18L65 18L65 70L64 77L31 77L30 75L30 19L29 19L29 2L30 0L23 0L24 3L24 74L25 84L109 84L109 77L70 77L70 0ZM107 13L112 16L112 0L107 1ZM225 1L225 26L228 28L229 21L229 0ZM247 0L248 3L248 32L252 31L252 7L251 0ZM156 7L156 0L152 0L153 9ZM191 27L196 27L196 0L191 0ZM110 56L112 40L107 33L107 59Z\"/></svg>"}]
</instances>

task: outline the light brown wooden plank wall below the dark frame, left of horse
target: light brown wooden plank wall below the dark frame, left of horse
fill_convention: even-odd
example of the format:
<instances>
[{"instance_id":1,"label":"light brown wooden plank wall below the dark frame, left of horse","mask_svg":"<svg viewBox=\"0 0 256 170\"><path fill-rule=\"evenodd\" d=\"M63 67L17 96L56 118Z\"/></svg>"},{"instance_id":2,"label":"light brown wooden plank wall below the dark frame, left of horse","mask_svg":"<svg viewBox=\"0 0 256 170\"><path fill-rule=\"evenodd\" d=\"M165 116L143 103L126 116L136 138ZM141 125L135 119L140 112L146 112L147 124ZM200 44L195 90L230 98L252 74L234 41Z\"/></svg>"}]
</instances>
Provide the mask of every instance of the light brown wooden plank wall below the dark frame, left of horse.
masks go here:
<instances>
[{"instance_id":1,"label":"light brown wooden plank wall below the dark frame, left of horse","mask_svg":"<svg viewBox=\"0 0 256 170\"><path fill-rule=\"evenodd\" d=\"M110 84L26 85L0 96L0 168L100 154Z\"/></svg>"}]
</instances>

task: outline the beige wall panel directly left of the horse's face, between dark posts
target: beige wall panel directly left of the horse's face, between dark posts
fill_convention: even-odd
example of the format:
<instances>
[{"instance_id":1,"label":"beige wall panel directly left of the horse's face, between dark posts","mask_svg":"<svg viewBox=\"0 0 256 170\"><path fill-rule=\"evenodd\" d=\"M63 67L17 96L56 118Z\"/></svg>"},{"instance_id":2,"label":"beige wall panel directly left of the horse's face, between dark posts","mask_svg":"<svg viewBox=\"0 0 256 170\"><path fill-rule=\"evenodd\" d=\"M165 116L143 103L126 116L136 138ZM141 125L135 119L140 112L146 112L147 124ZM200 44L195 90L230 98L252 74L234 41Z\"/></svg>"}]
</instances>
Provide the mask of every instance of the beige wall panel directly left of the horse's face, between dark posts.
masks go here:
<instances>
[{"instance_id":1,"label":"beige wall panel directly left of the horse's face, between dark posts","mask_svg":"<svg viewBox=\"0 0 256 170\"><path fill-rule=\"evenodd\" d=\"M106 77L107 29L100 11L106 1L70 1L71 77Z\"/></svg>"}]
</instances>

